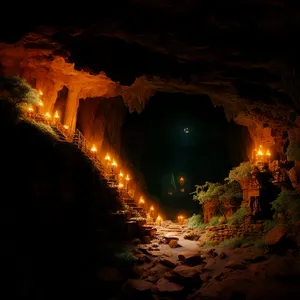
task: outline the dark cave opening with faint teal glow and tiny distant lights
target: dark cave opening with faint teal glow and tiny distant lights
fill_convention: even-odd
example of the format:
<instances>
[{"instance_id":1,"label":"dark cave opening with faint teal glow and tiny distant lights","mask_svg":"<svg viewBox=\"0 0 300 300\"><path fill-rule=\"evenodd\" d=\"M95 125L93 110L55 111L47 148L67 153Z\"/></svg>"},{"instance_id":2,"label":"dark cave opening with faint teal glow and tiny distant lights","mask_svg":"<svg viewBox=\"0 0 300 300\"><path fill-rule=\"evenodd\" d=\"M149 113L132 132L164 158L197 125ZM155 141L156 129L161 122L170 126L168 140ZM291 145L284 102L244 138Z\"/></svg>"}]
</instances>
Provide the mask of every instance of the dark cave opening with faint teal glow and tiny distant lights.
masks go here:
<instances>
[{"instance_id":1,"label":"dark cave opening with faint teal glow and tiny distant lights","mask_svg":"<svg viewBox=\"0 0 300 300\"><path fill-rule=\"evenodd\" d=\"M248 129L227 121L208 96L157 93L140 115L127 113L121 146L174 219L179 211L199 213L194 186L223 182L247 160L250 143Z\"/></svg>"}]
</instances>

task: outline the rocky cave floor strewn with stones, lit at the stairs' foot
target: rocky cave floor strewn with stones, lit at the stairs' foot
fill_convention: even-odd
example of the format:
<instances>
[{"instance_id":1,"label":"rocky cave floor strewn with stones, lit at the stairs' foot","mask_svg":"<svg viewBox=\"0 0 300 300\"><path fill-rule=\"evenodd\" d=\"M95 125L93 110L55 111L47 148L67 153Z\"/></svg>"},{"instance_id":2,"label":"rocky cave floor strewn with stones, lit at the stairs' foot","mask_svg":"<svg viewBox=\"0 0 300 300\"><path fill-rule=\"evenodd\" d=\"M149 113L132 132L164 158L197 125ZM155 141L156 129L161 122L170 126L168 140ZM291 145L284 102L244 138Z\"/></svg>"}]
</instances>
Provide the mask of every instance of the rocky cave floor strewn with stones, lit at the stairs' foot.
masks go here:
<instances>
[{"instance_id":1,"label":"rocky cave floor strewn with stones, lit at the stairs' foot","mask_svg":"<svg viewBox=\"0 0 300 300\"><path fill-rule=\"evenodd\" d=\"M186 225L157 226L133 248L132 278L113 299L299 299L300 255L246 244L234 250L184 239Z\"/></svg>"}]
</instances>

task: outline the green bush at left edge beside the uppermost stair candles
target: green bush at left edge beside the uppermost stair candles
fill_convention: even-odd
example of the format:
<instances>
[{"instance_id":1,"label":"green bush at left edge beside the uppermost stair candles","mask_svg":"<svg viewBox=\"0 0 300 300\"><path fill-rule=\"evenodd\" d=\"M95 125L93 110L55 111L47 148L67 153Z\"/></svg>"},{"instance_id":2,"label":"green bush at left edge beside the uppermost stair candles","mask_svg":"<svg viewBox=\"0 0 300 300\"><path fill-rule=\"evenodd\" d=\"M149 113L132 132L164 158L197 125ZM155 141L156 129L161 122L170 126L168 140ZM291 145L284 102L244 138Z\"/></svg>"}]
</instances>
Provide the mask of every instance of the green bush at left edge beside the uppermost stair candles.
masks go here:
<instances>
[{"instance_id":1,"label":"green bush at left edge beside the uppermost stair candles","mask_svg":"<svg viewBox=\"0 0 300 300\"><path fill-rule=\"evenodd\" d=\"M14 104L37 104L39 94L23 78L0 77L0 99L8 99Z\"/></svg>"}]
</instances>

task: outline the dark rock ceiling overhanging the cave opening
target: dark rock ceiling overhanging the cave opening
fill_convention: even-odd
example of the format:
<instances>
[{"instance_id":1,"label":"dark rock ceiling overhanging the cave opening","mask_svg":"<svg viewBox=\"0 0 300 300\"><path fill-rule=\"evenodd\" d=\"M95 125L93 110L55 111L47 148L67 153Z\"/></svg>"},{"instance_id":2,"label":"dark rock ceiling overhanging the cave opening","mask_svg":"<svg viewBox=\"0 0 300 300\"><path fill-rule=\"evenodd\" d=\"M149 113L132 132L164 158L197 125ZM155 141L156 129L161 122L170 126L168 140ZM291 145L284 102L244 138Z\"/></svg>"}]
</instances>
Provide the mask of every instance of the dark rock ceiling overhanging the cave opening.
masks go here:
<instances>
[{"instance_id":1,"label":"dark rock ceiling overhanging the cave opening","mask_svg":"<svg viewBox=\"0 0 300 300\"><path fill-rule=\"evenodd\" d=\"M227 117L246 126L253 121L290 126L300 112L297 1L74 6L47 8L47 16L28 9L19 17L22 26L9 31L1 26L0 49L19 43L34 53L30 59L38 61L36 67L63 58L74 66L74 76L99 79L101 74L113 90L101 96L130 90L143 101L155 91L207 94L224 106ZM97 89L89 96L97 96Z\"/></svg>"}]
</instances>

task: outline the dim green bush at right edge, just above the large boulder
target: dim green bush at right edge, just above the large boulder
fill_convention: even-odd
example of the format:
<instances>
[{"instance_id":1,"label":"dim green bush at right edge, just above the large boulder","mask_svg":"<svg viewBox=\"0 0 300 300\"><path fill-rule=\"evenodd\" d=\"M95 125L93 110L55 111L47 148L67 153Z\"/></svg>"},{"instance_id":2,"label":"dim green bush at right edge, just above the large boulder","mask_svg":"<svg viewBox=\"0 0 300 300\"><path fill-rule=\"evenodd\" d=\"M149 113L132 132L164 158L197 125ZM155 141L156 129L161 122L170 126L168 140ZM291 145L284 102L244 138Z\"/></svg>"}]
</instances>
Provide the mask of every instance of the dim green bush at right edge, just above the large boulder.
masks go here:
<instances>
[{"instance_id":1,"label":"dim green bush at right edge, just above the large boulder","mask_svg":"<svg viewBox=\"0 0 300 300\"><path fill-rule=\"evenodd\" d=\"M295 191L282 191L272 202L272 209L283 213L291 222L300 220L300 195Z\"/></svg>"}]
</instances>

